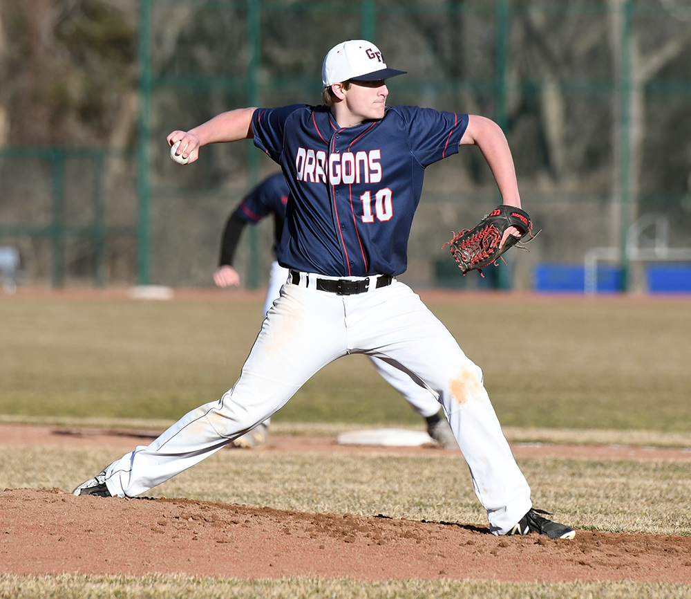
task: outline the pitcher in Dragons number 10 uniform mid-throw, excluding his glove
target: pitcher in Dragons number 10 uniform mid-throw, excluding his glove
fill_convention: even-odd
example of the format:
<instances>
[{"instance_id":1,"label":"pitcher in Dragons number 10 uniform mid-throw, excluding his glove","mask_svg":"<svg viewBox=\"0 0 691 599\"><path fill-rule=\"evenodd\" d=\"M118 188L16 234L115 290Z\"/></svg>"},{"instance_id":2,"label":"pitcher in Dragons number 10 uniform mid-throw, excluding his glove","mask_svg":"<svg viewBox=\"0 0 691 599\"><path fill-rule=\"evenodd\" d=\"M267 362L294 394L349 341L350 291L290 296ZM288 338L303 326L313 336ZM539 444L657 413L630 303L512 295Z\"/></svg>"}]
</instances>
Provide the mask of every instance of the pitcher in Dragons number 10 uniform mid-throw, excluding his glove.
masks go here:
<instances>
[{"instance_id":1,"label":"pitcher in Dragons number 10 uniform mid-throw, excluding his glove","mask_svg":"<svg viewBox=\"0 0 691 599\"><path fill-rule=\"evenodd\" d=\"M349 40L324 59L323 105L236 109L170 133L169 145L180 142L175 152L187 164L210 143L252 139L281 165L290 201L276 257L290 274L235 385L106 466L75 495L139 495L265 421L329 362L364 353L422 381L439 400L492 533L575 536L571 526L533 509L482 370L397 280L406 270L425 169L460 146L482 151L502 205L520 208L500 127L482 116L389 106L386 80L402 73L388 68L375 44ZM509 236L522 232L505 228L500 247Z\"/></svg>"}]
</instances>

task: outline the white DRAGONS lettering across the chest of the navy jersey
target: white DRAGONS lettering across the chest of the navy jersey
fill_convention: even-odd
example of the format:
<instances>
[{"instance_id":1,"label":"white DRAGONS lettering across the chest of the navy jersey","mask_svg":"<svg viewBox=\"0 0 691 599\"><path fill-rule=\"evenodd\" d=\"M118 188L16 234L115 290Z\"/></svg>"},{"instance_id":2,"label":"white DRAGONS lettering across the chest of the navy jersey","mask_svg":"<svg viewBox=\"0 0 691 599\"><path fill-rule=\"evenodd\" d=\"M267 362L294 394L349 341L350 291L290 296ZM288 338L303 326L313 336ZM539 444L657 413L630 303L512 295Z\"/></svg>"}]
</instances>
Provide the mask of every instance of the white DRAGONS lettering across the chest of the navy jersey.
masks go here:
<instances>
[{"instance_id":1,"label":"white DRAGONS lettering across the chest of the navy jersey","mask_svg":"<svg viewBox=\"0 0 691 599\"><path fill-rule=\"evenodd\" d=\"M328 159L326 153L313 149L298 148L295 156L295 173L298 181L350 185L355 183L379 183L381 181L381 150L334 153ZM327 176L328 174L328 176Z\"/></svg>"}]
</instances>

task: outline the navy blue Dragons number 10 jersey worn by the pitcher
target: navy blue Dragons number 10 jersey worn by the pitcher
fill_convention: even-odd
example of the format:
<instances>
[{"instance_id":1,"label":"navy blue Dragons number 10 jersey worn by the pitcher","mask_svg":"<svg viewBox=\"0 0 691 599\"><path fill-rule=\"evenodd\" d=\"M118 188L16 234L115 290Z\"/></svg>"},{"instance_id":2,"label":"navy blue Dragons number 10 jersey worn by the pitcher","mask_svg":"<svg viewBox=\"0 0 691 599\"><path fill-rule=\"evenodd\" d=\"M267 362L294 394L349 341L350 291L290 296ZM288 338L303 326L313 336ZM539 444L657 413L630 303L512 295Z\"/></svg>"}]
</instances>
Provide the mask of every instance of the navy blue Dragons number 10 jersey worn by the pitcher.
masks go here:
<instances>
[{"instance_id":1,"label":"navy blue Dragons number 10 jersey worn by the pitcher","mask_svg":"<svg viewBox=\"0 0 691 599\"><path fill-rule=\"evenodd\" d=\"M348 128L324 106L254 111L254 144L290 190L278 263L331 277L404 273L424 170L458 151L467 126L465 114L409 106Z\"/></svg>"}]
</instances>

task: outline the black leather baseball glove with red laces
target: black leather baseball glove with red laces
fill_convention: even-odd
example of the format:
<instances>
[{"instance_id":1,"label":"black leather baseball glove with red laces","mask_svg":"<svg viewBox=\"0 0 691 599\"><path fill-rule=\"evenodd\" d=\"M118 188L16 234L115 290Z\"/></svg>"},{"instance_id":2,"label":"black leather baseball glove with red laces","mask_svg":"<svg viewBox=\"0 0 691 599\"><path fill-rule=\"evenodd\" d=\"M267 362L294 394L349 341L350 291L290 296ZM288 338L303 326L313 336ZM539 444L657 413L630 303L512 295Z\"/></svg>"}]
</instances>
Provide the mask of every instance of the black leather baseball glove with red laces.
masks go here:
<instances>
[{"instance_id":1,"label":"black leather baseball glove with red laces","mask_svg":"<svg viewBox=\"0 0 691 599\"><path fill-rule=\"evenodd\" d=\"M521 237L509 235L507 241L500 247L504 231L509 227L517 228L521 232ZM444 243L442 248L449 246L451 255L464 275L470 270L478 270L482 275L484 266L494 264L520 239L526 235L532 239L534 237L531 234L532 227L533 223L527 212L515 206L500 205L472 229L464 229L458 233L452 231L453 239Z\"/></svg>"}]
</instances>

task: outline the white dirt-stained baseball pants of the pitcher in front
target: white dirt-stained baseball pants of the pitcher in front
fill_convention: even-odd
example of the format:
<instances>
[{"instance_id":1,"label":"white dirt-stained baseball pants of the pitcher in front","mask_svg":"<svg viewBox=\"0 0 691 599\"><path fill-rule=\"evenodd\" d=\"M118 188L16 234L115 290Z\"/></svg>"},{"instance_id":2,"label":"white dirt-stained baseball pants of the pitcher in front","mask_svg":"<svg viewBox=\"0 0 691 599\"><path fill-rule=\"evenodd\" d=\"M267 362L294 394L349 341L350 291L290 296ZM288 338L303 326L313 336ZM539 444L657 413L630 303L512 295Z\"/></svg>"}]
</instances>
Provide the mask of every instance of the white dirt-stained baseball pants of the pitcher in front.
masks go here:
<instances>
[{"instance_id":1,"label":"white dirt-stained baseball pants of the pitcher in front","mask_svg":"<svg viewBox=\"0 0 691 599\"><path fill-rule=\"evenodd\" d=\"M265 421L325 365L366 353L413 374L439 398L491 531L507 533L531 508L530 488L480 368L401 282L381 288L372 282L366 293L336 295L311 288L316 277L310 275L310 288L303 286L304 273L299 285L283 286L234 387L108 466L108 491L133 497L167 481Z\"/></svg>"}]
</instances>

